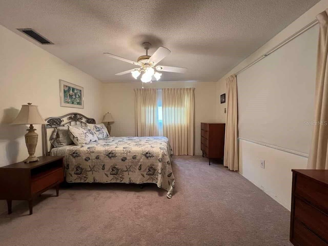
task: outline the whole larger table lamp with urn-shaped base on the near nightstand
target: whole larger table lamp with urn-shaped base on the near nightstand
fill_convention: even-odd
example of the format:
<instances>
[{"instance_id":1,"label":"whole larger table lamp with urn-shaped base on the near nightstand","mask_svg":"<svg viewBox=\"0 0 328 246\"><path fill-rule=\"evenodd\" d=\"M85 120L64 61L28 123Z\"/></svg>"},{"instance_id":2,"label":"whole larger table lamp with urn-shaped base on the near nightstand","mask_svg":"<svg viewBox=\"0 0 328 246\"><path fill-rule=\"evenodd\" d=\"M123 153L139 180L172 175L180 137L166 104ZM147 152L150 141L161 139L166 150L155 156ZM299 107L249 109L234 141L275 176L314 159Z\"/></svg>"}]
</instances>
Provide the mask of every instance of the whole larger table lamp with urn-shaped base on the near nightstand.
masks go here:
<instances>
[{"instance_id":1,"label":"whole larger table lamp with urn-shaped base on the near nightstand","mask_svg":"<svg viewBox=\"0 0 328 246\"><path fill-rule=\"evenodd\" d=\"M27 129L28 133L25 134L26 147L29 152L29 157L24 160L24 162L29 163L30 161L39 160L35 155L35 148L37 144L37 133L36 129L33 128L35 124L47 124L47 122L42 118L37 106L28 103L27 105L22 105L17 117L12 122L12 125L30 125Z\"/></svg>"}]
</instances>

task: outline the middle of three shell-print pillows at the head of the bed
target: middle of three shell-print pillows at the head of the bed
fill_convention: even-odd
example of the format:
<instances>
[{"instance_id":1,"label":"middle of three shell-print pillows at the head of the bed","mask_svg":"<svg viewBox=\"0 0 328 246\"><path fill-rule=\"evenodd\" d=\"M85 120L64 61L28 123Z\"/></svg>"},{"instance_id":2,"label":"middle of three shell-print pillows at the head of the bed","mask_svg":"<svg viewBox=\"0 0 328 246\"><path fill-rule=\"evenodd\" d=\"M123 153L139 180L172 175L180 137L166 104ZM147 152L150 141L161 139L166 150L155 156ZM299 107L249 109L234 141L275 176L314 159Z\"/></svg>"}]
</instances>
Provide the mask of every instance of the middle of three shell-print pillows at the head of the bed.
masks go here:
<instances>
[{"instance_id":1,"label":"middle of three shell-print pillows at the head of the bed","mask_svg":"<svg viewBox=\"0 0 328 246\"><path fill-rule=\"evenodd\" d=\"M68 130L75 145L86 145L89 142L98 141L96 134L88 126L69 126Z\"/></svg>"}]
</instances>

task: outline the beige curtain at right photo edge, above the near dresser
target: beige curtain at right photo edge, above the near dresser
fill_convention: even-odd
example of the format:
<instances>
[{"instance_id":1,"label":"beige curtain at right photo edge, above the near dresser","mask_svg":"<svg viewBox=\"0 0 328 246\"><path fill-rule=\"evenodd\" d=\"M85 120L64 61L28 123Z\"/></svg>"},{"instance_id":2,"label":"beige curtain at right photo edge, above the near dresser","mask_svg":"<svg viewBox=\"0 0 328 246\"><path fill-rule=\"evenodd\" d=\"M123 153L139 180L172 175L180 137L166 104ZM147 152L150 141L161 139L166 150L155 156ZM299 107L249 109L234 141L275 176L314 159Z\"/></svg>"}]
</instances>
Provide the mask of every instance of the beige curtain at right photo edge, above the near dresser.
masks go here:
<instances>
[{"instance_id":1,"label":"beige curtain at right photo edge, above the near dresser","mask_svg":"<svg viewBox=\"0 0 328 246\"><path fill-rule=\"evenodd\" d=\"M315 118L308 169L328 169L328 9L317 15L319 44L316 73Z\"/></svg>"}]
</instances>

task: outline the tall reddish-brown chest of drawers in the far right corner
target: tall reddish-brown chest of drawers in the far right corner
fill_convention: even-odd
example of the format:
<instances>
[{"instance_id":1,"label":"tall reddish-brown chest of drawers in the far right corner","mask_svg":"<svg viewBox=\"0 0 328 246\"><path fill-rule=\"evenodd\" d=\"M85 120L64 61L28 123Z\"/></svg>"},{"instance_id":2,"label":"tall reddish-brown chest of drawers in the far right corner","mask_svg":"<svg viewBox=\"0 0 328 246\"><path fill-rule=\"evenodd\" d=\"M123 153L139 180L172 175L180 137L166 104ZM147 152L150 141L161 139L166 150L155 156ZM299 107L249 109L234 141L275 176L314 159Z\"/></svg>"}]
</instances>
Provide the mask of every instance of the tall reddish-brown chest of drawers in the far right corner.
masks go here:
<instances>
[{"instance_id":1,"label":"tall reddish-brown chest of drawers in the far right corner","mask_svg":"<svg viewBox=\"0 0 328 246\"><path fill-rule=\"evenodd\" d=\"M223 158L226 124L201 123L200 129L200 148L203 157L209 158L209 165L211 165L212 158Z\"/></svg>"}]
</instances>

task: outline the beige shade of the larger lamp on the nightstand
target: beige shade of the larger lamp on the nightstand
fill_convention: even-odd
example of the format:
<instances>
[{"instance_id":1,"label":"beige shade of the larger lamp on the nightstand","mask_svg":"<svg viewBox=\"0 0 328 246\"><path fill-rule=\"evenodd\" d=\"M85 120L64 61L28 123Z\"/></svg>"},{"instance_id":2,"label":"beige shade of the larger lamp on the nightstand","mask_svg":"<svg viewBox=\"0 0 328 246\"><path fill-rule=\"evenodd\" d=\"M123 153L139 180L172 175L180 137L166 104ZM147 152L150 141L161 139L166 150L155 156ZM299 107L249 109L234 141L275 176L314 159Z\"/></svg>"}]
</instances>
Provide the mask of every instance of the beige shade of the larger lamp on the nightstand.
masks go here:
<instances>
[{"instance_id":1,"label":"beige shade of the larger lamp on the nightstand","mask_svg":"<svg viewBox=\"0 0 328 246\"><path fill-rule=\"evenodd\" d=\"M47 122L40 115L36 105L28 103L22 105L17 117L12 122L12 125L40 125L47 124Z\"/></svg>"}]
</instances>

